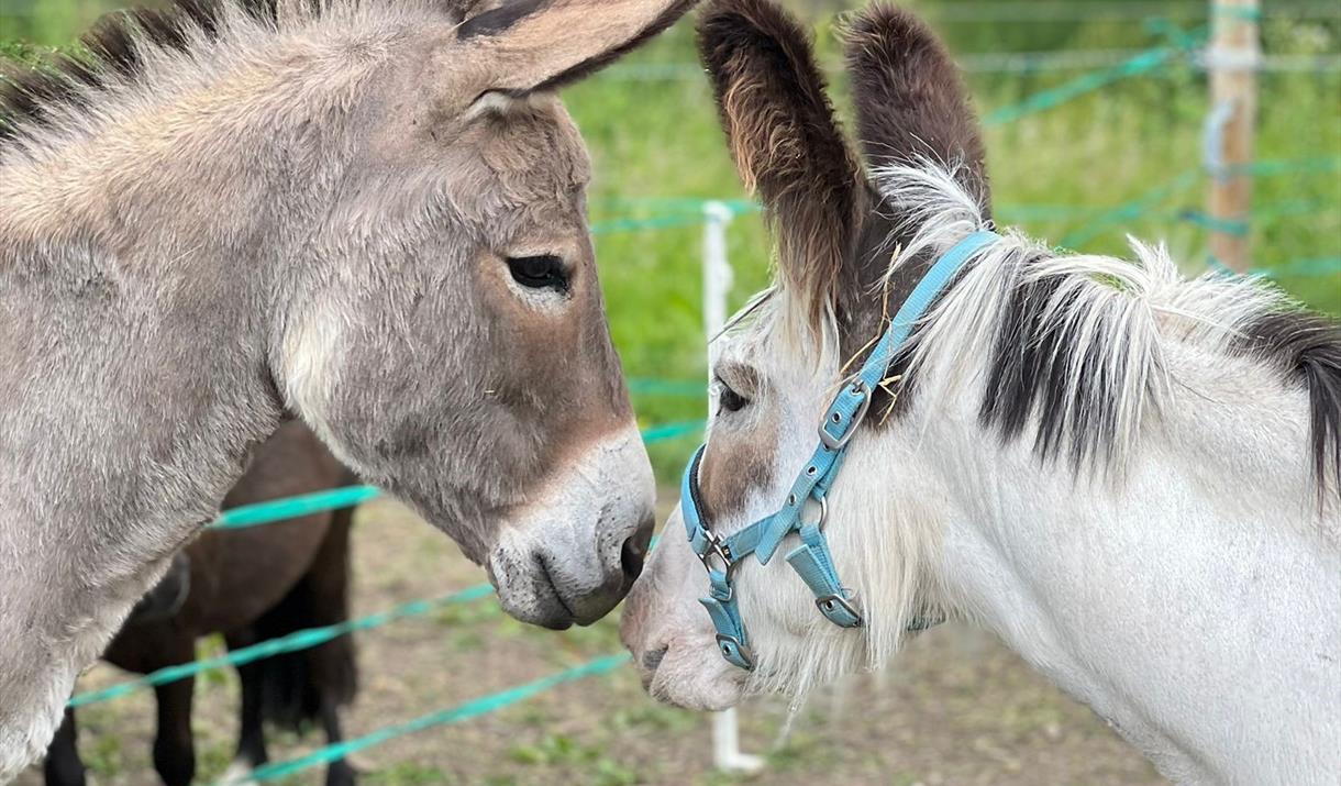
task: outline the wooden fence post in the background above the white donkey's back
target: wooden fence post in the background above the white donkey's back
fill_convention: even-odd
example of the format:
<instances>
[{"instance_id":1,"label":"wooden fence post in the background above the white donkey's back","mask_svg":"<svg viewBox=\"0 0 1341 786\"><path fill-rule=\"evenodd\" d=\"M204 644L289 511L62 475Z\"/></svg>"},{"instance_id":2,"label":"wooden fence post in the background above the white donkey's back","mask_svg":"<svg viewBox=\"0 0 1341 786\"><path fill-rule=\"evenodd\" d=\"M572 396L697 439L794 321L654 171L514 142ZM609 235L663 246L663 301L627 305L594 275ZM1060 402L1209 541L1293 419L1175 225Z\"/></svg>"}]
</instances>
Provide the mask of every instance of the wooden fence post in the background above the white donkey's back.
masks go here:
<instances>
[{"instance_id":1,"label":"wooden fence post in the background above the white donkey's back","mask_svg":"<svg viewBox=\"0 0 1341 786\"><path fill-rule=\"evenodd\" d=\"M1247 272L1252 264L1252 134L1257 125L1258 0L1211 0L1211 114L1206 129L1211 176L1211 256L1219 264Z\"/></svg>"}]
</instances>

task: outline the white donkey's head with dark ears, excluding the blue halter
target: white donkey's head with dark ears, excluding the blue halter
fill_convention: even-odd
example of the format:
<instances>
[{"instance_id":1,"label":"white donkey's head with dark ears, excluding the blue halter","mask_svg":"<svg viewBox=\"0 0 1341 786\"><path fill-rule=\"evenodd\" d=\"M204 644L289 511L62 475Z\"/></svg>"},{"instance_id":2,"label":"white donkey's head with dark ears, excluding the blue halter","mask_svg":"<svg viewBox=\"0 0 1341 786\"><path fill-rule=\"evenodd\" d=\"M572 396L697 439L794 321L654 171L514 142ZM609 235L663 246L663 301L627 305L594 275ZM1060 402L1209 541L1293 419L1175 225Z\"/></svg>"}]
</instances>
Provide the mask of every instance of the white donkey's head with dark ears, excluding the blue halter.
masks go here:
<instances>
[{"instance_id":1,"label":"white donkey's head with dark ears, excluding the blue halter","mask_svg":"<svg viewBox=\"0 0 1341 786\"><path fill-rule=\"evenodd\" d=\"M846 32L864 156L839 130L807 36L778 7L719 0L699 32L728 144L743 180L764 204L778 247L775 287L723 338L713 369L719 405L697 480L712 531L730 535L783 506L815 451L842 359L869 346L929 263L929 249L907 248L917 229L917 194L882 192L881 172L923 160L952 164L983 213L987 186L957 72L911 15L874 7ZM896 256L902 262L889 272ZM888 394L878 394L873 409L889 404ZM868 418L864 429L878 420ZM860 451L853 452L848 465L861 461ZM862 550L858 535L870 534L845 527L839 492L852 499L861 490L839 487L825 532L860 604L866 577L854 554ZM881 609L866 608L865 628L837 628L815 612L814 597L783 559L760 565L750 558L734 577L756 659L747 677L717 652L697 602L707 594L705 573L683 531L676 520L668 524L669 537L624 616L624 640L649 691L662 700L720 708L746 689L803 689L858 665L868 637L888 624ZM865 549L898 570L888 550Z\"/></svg>"}]
</instances>

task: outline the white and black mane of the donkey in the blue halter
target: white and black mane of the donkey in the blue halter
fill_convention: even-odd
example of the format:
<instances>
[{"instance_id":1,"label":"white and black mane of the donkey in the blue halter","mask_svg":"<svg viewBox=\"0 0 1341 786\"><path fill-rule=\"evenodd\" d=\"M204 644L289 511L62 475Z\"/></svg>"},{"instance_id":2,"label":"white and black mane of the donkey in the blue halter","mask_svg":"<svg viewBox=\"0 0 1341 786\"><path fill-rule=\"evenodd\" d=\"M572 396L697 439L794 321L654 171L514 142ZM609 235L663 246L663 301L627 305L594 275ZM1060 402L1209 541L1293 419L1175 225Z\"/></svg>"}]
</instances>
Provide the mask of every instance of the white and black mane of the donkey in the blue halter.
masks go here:
<instances>
[{"instance_id":1,"label":"white and black mane of the donkey in the blue halter","mask_svg":"<svg viewBox=\"0 0 1341 786\"><path fill-rule=\"evenodd\" d=\"M955 173L928 162L877 172L916 229L894 259L939 256L987 229ZM980 423L1074 471L1121 471L1171 386L1175 343L1250 357L1309 393L1318 492L1341 492L1341 326L1251 276L1183 278L1163 247L1130 240L1134 262L1061 255L1011 232L980 251L915 334L909 378L936 362L952 381L987 366ZM912 390L908 390L912 392Z\"/></svg>"}]
</instances>

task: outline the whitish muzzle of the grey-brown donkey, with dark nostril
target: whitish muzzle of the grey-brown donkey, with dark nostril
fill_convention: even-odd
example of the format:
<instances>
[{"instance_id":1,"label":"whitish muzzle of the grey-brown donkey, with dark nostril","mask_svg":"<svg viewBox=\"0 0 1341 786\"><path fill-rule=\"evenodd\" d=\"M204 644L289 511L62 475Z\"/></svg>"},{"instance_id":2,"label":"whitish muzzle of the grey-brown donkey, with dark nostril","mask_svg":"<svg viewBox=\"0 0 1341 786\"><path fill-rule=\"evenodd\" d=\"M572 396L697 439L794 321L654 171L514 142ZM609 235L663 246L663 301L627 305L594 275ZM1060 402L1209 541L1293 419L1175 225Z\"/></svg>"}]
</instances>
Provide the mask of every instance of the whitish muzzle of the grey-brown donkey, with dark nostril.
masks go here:
<instances>
[{"instance_id":1,"label":"whitish muzzle of the grey-brown donkey, with dark nostril","mask_svg":"<svg viewBox=\"0 0 1341 786\"><path fill-rule=\"evenodd\" d=\"M504 514L488 557L504 610L563 629L606 616L642 571L656 483L636 424L562 463L527 504Z\"/></svg>"}]
</instances>

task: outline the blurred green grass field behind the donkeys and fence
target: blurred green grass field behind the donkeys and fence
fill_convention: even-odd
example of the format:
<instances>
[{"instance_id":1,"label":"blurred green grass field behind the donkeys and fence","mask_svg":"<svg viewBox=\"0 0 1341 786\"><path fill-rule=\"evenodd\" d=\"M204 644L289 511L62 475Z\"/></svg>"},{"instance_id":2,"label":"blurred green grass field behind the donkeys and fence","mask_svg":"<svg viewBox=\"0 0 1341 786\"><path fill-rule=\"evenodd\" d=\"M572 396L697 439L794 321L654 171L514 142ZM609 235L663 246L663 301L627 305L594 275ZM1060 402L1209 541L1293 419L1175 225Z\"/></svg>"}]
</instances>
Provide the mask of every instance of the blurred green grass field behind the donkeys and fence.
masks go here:
<instances>
[{"instance_id":1,"label":"blurred green grass field behind the donkeys and fence","mask_svg":"<svg viewBox=\"0 0 1341 786\"><path fill-rule=\"evenodd\" d=\"M811 9L821 58L841 59L833 16L815 7L857 3L795 3ZM8 51L68 44L94 19L101 0L0 0L0 39ZM917 4L933 19L947 3ZM1108 4L1112 5L1112 4ZM1297 4L1298 7L1298 4ZM1271 11L1273 4L1267 4ZM1309 5L1317 8L1317 5ZM1270 54L1336 52L1338 13L1321 19L1282 16L1263 21ZM963 52L1110 50L1153 47L1172 25L1204 24L1204 4L1169 4L1172 20L976 23L940 27ZM949 15L955 16L955 15ZM961 15L960 15L961 16ZM743 199L723 145L705 79L693 74L692 30L680 24L606 74L569 89L565 99L595 161L591 217L598 228L601 276L616 343L633 378L697 381L704 376L701 329L701 227L696 208L677 201ZM688 68L684 68L688 67ZM843 75L830 67L839 106ZM665 76L654 78L648 76ZM979 74L970 82L987 118L1084 71ZM1314 308L1341 314L1341 74L1285 72L1261 78L1254 263ZM1176 59L1167 67L1117 80L987 131L998 217L1049 243L1116 252L1125 235L1164 240L1187 272L1207 263L1208 229L1188 220L1206 203L1199 172L1208 89L1203 72ZM630 229L628 219L654 228ZM730 229L736 272L734 303L768 278L770 249L756 215ZM703 417L701 396L637 394L644 425ZM692 436L658 444L654 459L669 478Z\"/></svg>"}]
</instances>

